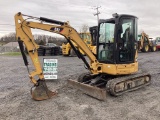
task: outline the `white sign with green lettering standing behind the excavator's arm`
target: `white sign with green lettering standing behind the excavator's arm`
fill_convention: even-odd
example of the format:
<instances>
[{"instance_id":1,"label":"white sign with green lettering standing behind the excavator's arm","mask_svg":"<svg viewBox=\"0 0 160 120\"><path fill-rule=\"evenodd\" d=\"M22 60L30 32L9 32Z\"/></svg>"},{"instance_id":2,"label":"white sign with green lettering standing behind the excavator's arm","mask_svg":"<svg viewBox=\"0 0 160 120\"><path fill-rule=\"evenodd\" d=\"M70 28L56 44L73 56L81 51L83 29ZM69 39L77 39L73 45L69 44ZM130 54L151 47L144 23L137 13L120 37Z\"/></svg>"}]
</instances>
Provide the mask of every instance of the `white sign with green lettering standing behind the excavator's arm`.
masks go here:
<instances>
[{"instance_id":1,"label":"white sign with green lettering standing behind the excavator's arm","mask_svg":"<svg viewBox=\"0 0 160 120\"><path fill-rule=\"evenodd\" d=\"M45 79L57 79L57 59L43 59L43 74Z\"/></svg>"}]
</instances>

